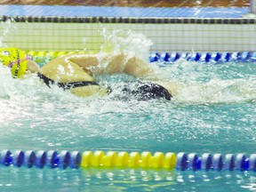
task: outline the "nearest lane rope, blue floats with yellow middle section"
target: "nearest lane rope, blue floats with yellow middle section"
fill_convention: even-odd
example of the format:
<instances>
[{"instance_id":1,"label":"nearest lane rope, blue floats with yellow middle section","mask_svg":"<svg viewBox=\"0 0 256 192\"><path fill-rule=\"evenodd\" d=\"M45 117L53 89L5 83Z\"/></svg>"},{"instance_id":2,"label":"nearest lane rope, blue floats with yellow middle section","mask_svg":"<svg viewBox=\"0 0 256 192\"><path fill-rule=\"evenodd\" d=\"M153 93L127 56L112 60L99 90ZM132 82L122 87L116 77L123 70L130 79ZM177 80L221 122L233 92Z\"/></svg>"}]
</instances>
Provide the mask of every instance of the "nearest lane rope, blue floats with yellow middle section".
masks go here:
<instances>
[{"instance_id":1,"label":"nearest lane rope, blue floats with yellow middle section","mask_svg":"<svg viewBox=\"0 0 256 192\"><path fill-rule=\"evenodd\" d=\"M147 154L147 156L145 156ZM136 155L136 158L134 157ZM136 162L135 162L136 161ZM96 164L97 163L97 164ZM110 151L104 153L103 151L79 151L68 152L62 150L60 153L54 150L50 151L33 151L33 150L14 150L11 152L4 149L0 152L0 164L2 166L14 167L36 167L38 169L78 169L79 167L92 166L99 167L141 167L141 168L163 168L163 169L176 169L179 171L240 171L240 172L256 172L256 154L249 157L245 154L210 154L204 153L198 156L196 153L186 154L180 152L164 153L156 152L151 156L150 152L115 152ZM156 166L157 165L157 166Z\"/></svg>"}]
</instances>

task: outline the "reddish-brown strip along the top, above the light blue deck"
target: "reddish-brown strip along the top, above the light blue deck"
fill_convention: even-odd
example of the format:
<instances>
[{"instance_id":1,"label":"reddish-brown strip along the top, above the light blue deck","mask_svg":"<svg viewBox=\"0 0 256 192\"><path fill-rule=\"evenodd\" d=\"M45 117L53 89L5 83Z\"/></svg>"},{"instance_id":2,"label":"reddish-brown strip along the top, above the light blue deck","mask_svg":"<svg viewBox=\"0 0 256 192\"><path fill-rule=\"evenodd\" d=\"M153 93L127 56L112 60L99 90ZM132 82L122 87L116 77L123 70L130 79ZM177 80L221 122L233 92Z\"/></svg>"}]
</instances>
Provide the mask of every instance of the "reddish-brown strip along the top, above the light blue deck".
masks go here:
<instances>
[{"instance_id":1,"label":"reddish-brown strip along the top, above the light blue deck","mask_svg":"<svg viewBox=\"0 0 256 192\"><path fill-rule=\"evenodd\" d=\"M250 0L2 0L0 4L122 7L244 7L249 6Z\"/></svg>"}]
</instances>

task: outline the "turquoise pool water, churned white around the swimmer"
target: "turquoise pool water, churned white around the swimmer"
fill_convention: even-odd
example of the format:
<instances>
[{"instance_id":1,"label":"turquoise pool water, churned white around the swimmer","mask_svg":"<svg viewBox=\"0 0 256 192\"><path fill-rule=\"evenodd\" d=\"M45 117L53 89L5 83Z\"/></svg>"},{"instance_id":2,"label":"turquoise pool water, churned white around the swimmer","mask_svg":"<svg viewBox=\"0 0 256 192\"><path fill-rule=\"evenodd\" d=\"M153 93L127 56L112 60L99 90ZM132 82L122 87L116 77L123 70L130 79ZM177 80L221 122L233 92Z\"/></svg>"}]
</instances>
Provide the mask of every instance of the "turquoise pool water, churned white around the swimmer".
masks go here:
<instances>
[{"instance_id":1,"label":"turquoise pool water, churned white around the swimmer","mask_svg":"<svg viewBox=\"0 0 256 192\"><path fill-rule=\"evenodd\" d=\"M0 67L2 149L255 153L256 66L179 60L155 63L163 79L184 87L168 100L78 98L36 75L13 79ZM124 84L131 76L97 76ZM1 167L6 191L245 191L255 172Z\"/></svg>"}]
</instances>

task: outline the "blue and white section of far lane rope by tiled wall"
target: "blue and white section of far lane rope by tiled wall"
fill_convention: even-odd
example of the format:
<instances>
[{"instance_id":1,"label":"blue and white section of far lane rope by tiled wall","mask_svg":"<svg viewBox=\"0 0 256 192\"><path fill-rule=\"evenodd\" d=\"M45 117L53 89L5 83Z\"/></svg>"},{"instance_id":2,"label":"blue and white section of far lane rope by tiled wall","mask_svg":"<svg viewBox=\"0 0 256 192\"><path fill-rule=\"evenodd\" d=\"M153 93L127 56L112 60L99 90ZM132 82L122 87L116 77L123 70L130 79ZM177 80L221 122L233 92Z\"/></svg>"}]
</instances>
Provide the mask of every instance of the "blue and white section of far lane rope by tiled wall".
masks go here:
<instances>
[{"instance_id":1,"label":"blue and white section of far lane rope by tiled wall","mask_svg":"<svg viewBox=\"0 0 256 192\"><path fill-rule=\"evenodd\" d=\"M256 52L154 52L150 54L150 62L173 63L178 60L195 62L223 63L228 61L256 62Z\"/></svg>"}]
</instances>

